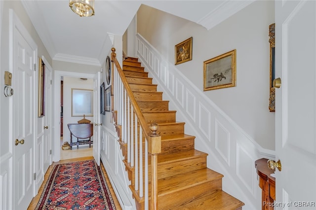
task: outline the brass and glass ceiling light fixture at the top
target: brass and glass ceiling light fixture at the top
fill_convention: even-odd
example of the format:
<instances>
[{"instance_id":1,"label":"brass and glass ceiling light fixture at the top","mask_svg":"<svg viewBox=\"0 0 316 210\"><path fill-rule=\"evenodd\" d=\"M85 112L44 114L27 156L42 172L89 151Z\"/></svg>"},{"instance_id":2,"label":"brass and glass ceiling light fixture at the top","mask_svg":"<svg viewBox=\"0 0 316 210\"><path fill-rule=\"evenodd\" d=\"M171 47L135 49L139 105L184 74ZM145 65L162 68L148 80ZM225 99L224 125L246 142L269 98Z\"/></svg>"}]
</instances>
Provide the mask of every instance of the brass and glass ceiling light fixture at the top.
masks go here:
<instances>
[{"instance_id":1,"label":"brass and glass ceiling light fixture at the top","mask_svg":"<svg viewBox=\"0 0 316 210\"><path fill-rule=\"evenodd\" d=\"M69 0L69 6L80 17L94 15L94 0Z\"/></svg>"}]
</instances>

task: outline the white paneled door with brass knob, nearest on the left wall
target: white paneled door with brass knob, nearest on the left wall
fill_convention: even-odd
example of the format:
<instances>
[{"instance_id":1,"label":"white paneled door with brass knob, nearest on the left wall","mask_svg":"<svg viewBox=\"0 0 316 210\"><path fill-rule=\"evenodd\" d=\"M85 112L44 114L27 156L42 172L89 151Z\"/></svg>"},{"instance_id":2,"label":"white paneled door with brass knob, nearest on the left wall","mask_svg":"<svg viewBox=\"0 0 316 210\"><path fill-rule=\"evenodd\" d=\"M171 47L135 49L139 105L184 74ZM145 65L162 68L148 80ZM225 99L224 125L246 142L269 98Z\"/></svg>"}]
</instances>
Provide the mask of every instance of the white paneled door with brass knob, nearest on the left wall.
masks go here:
<instances>
[{"instance_id":1,"label":"white paneled door with brass knob, nearest on the left wall","mask_svg":"<svg viewBox=\"0 0 316 210\"><path fill-rule=\"evenodd\" d=\"M34 64L37 46L17 16L10 10L13 100L13 209L25 210L34 196L33 160L35 140Z\"/></svg>"}]
</instances>

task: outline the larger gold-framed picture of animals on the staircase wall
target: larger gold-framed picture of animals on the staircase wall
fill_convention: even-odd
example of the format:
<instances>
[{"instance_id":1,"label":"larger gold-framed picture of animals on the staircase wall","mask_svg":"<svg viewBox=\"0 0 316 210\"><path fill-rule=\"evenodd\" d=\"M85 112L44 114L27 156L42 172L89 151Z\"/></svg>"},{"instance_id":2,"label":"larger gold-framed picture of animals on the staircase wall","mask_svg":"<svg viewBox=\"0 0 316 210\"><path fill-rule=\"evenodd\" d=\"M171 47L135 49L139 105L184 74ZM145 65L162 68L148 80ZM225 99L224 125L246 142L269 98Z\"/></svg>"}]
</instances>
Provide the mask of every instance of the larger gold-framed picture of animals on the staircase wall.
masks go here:
<instances>
[{"instance_id":1,"label":"larger gold-framed picture of animals on the staircase wall","mask_svg":"<svg viewBox=\"0 0 316 210\"><path fill-rule=\"evenodd\" d=\"M203 90L236 86L236 49L204 61Z\"/></svg>"}]
</instances>

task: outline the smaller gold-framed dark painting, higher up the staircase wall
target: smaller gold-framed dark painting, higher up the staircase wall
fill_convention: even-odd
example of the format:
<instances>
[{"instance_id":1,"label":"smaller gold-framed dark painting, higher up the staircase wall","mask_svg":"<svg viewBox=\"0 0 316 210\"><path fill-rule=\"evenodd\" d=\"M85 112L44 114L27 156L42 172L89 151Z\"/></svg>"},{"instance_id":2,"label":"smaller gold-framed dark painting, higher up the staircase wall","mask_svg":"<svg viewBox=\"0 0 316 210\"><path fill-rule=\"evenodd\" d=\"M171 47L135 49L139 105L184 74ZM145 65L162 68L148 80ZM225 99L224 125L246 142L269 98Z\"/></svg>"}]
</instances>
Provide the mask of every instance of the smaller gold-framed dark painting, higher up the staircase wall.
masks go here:
<instances>
[{"instance_id":1,"label":"smaller gold-framed dark painting, higher up the staircase wall","mask_svg":"<svg viewBox=\"0 0 316 210\"><path fill-rule=\"evenodd\" d=\"M192 37L175 45L175 65L192 60Z\"/></svg>"}]
</instances>

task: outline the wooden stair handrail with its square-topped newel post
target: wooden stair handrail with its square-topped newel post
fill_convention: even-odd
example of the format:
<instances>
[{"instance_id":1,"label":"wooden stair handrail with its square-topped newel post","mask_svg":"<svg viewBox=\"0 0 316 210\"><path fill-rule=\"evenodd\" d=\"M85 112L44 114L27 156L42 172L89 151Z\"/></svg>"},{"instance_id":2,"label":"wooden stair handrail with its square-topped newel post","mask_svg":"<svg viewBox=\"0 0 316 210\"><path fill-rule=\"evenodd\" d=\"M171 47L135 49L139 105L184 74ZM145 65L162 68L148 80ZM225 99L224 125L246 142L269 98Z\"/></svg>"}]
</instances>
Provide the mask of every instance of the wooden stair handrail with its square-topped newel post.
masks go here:
<instances>
[{"instance_id":1,"label":"wooden stair handrail with its square-topped newel post","mask_svg":"<svg viewBox=\"0 0 316 210\"><path fill-rule=\"evenodd\" d=\"M130 104L134 108L134 112L138 118L138 122L142 127L145 138L148 140L148 153L151 154L151 210L158 210L158 153L161 153L161 137L152 133L152 130L147 124L147 121L141 111L132 90L127 82L127 79L123 73L122 68L120 67L117 56L115 53L115 48L113 47L111 53L111 60L116 66L118 75L121 78L121 82L125 88L125 91L129 97ZM116 96L115 96L116 97Z\"/></svg>"}]
</instances>

